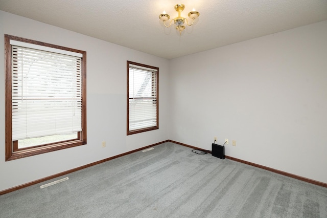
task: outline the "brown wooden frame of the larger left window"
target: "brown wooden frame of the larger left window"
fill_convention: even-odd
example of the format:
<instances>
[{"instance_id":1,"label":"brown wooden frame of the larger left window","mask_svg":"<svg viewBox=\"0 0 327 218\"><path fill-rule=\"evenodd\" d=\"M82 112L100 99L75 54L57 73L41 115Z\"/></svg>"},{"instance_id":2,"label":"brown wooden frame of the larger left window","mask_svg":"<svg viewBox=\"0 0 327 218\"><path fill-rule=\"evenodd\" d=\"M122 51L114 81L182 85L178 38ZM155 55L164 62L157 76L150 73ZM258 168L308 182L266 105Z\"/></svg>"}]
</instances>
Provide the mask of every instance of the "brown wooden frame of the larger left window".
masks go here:
<instances>
[{"instance_id":1,"label":"brown wooden frame of the larger left window","mask_svg":"<svg viewBox=\"0 0 327 218\"><path fill-rule=\"evenodd\" d=\"M70 52L81 53L82 57L82 130L78 132L77 139L59 141L55 143L42 144L38 146L31 146L28 148L18 148L18 142L12 141L12 52L10 39L16 41L27 42L39 46L50 47L54 49L66 50ZM5 34L5 93L6 93L6 161L15 160L19 158L30 157L34 155L44 154L55 150L66 149L70 147L80 146L86 144L86 52L53 45L50 43L40 42L32 39L26 39L18 36L12 36Z\"/></svg>"}]
</instances>

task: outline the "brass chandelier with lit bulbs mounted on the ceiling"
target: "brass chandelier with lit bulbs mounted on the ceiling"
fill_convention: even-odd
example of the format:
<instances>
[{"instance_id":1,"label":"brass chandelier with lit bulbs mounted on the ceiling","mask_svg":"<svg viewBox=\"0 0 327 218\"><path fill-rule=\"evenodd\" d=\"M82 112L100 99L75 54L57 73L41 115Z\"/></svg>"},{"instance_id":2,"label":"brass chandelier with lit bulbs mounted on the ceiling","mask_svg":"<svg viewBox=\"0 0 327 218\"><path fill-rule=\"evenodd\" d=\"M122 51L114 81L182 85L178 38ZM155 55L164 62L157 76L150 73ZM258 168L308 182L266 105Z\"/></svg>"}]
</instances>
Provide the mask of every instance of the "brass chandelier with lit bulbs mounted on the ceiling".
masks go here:
<instances>
[{"instance_id":1,"label":"brass chandelier with lit bulbs mounted on the ceiling","mask_svg":"<svg viewBox=\"0 0 327 218\"><path fill-rule=\"evenodd\" d=\"M189 20L180 15L180 13L184 10L184 8L185 8L185 6L183 4L175 5L175 10L178 12L178 17L175 17L174 19L172 19L168 26L166 25L166 21L169 20L170 16L168 14L166 14L165 11L164 11L164 13L159 15L159 19L164 21L165 27L170 27L174 21L174 24L176 25L176 30L179 31L179 35L181 35L182 31L185 29L185 26L183 26L183 24L185 23L185 20L186 20L186 24L188 26L192 26L195 18L200 16L200 13L193 9L193 11L191 11L189 13L189 17L192 19L192 23L189 24Z\"/></svg>"}]
</instances>

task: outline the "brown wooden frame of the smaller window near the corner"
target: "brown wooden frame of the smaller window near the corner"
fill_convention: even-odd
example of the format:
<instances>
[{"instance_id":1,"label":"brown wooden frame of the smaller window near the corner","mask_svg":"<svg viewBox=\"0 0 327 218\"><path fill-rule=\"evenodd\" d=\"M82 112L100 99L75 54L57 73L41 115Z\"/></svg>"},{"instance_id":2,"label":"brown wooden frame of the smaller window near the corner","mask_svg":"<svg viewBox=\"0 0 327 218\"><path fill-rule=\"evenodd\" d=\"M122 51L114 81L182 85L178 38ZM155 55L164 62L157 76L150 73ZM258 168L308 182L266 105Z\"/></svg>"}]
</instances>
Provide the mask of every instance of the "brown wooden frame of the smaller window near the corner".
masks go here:
<instances>
[{"instance_id":1,"label":"brown wooden frame of the smaller window near the corner","mask_svg":"<svg viewBox=\"0 0 327 218\"><path fill-rule=\"evenodd\" d=\"M129 68L130 68L129 66L130 64L157 70L156 72L156 126L129 130ZM126 126L127 126L127 136L137 133L143 133L159 128L159 68L142 64L142 63L136 63L133 61L127 61L127 125Z\"/></svg>"}]
</instances>

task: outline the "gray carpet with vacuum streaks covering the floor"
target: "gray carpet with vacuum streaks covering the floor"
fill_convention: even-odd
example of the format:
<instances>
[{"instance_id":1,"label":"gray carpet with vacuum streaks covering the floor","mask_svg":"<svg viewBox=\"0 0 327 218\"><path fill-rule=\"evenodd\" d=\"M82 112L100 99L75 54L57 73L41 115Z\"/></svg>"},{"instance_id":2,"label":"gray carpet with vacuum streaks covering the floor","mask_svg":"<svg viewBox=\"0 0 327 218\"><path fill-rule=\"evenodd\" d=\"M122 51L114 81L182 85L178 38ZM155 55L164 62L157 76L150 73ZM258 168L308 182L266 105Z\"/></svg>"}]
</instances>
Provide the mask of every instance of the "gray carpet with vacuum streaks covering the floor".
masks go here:
<instances>
[{"instance_id":1,"label":"gray carpet with vacuum streaks covering the floor","mask_svg":"<svg viewBox=\"0 0 327 218\"><path fill-rule=\"evenodd\" d=\"M327 217L327 188L164 143L0 196L0 217Z\"/></svg>"}]
</instances>

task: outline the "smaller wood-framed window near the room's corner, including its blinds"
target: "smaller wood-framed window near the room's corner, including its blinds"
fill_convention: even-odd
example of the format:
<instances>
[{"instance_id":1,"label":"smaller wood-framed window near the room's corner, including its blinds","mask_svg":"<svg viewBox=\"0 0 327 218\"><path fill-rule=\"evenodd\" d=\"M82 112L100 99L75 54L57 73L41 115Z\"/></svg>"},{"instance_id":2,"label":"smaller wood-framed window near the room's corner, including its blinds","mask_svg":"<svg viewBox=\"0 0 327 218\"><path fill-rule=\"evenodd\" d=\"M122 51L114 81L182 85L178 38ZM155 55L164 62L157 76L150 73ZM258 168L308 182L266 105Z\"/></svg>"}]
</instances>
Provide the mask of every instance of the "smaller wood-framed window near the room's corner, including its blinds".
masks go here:
<instances>
[{"instance_id":1,"label":"smaller wood-framed window near the room's corner, including its blinds","mask_svg":"<svg viewBox=\"0 0 327 218\"><path fill-rule=\"evenodd\" d=\"M127 135L158 129L159 68L127 61Z\"/></svg>"}]
</instances>

